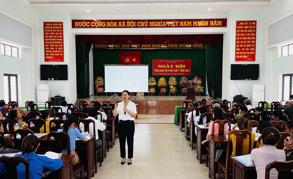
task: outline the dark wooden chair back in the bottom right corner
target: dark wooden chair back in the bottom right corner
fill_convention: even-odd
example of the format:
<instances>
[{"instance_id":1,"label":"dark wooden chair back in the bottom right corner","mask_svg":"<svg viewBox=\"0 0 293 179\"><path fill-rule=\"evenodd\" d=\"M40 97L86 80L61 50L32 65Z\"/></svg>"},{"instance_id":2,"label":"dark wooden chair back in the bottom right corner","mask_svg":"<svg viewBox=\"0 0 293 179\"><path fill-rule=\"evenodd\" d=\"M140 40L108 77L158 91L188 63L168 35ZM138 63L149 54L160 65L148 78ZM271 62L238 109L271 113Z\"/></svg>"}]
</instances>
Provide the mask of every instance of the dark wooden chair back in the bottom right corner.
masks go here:
<instances>
[{"instance_id":1,"label":"dark wooden chair back in the bottom right corner","mask_svg":"<svg viewBox=\"0 0 293 179\"><path fill-rule=\"evenodd\" d=\"M287 161L287 162L277 162L273 161L269 163L265 167L265 179L270 179L270 171L275 168L278 171L278 178L277 179L289 179L292 178L292 176L289 176L290 171L292 171L293 168L293 161Z\"/></svg>"}]
</instances>

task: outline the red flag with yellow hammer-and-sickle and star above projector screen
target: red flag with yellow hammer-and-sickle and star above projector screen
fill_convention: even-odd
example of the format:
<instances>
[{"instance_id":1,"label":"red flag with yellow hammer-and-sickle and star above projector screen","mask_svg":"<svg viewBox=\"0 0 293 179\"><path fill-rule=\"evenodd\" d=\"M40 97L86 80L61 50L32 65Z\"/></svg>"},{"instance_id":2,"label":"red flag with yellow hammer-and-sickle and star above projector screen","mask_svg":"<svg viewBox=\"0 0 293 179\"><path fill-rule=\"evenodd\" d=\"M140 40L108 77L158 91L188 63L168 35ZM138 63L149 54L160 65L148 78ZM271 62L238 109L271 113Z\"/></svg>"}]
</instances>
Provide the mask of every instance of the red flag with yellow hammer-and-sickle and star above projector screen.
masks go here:
<instances>
[{"instance_id":1,"label":"red flag with yellow hammer-and-sickle and star above projector screen","mask_svg":"<svg viewBox=\"0 0 293 179\"><path fill-rule=\"evenodd\" d=\"M140 64L140 52L119 52L120 65Z\"/></svg>"}]
</instances>

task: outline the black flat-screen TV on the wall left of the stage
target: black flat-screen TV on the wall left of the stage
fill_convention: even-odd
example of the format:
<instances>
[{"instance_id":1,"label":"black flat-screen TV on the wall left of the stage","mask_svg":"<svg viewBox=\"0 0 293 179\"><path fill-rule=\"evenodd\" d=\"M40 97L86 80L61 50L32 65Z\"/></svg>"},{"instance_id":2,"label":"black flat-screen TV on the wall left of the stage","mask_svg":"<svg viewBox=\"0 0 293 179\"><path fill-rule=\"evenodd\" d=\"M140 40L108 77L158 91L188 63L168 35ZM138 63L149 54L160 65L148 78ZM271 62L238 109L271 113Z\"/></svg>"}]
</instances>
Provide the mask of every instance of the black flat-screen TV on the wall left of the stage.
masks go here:
<instances>
[{"instance_id":1,"label":"black flat-screen TV on the wall left of the stage","mask_svg":"<svg viewBox=\"0 0 293 179\"><path fill-rule=\"evenodd\" d=\"M41 80L68 80L67 65L41 65Z\"/></svg>"}]
</instances>

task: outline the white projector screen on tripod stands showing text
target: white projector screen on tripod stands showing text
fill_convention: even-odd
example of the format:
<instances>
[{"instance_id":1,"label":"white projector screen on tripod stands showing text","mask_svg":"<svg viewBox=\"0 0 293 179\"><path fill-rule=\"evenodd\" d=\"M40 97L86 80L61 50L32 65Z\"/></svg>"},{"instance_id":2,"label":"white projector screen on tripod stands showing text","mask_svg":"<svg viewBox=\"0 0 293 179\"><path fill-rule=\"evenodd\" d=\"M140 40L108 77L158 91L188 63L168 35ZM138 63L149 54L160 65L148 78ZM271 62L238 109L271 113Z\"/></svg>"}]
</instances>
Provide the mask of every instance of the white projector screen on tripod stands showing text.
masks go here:
<instances>
[{"instance_id":1,"label":"white projector screen on tripod stands showing text","mask_svg":"<svg viewBox=\"0 0 293 179\"><path fill-rule=\"evenodd\" d=\"M149 92L149 65L104 65L105 92Z\"/></svg>"}]
</instances>

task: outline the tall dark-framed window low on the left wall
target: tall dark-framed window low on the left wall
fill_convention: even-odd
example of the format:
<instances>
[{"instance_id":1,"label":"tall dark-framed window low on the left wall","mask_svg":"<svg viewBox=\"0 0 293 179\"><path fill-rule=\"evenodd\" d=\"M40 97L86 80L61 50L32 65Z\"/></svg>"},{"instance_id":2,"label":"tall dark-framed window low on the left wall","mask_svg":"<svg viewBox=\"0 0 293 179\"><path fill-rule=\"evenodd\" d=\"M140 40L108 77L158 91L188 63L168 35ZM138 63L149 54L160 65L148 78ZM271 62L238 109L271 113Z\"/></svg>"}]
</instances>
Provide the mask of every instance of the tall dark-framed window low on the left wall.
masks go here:
<instances>
[{"instance_id":1,"label":"tall dark-framed window low on the left wall","mask_svg":"<svg viewBox=\"0 0 293 179\"><path fill-rule=\"evenodd\" d=\"M18 103L17 75L15 74L4 74L4 100Z\"/></svg>"}]
</instances>

